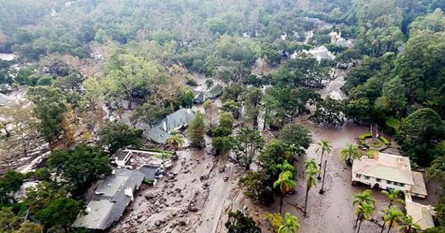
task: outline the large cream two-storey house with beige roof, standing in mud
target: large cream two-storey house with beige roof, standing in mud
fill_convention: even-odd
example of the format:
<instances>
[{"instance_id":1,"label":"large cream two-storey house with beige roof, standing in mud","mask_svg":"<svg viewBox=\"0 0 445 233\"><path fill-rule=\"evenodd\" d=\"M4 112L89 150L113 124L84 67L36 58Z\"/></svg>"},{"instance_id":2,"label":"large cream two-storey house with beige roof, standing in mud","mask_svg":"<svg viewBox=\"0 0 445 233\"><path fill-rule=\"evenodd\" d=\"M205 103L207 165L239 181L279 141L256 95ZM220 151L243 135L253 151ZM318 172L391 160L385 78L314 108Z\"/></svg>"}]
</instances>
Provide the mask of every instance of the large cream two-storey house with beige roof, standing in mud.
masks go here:
<instances>
[{"instance_id":1,"label":"large cream two-storey house with beige roof, standing in mud","mask_svg":"<svg viewBox=\"0 0 445 233\"><path fill-rule=\"evenodd\" d=\"M427 196L421 173L411 170L410 159L387 153L374 153L374 158L355 159L352 182L380 189L398 189L412 196Z\"/></svg>"}]
</instances>

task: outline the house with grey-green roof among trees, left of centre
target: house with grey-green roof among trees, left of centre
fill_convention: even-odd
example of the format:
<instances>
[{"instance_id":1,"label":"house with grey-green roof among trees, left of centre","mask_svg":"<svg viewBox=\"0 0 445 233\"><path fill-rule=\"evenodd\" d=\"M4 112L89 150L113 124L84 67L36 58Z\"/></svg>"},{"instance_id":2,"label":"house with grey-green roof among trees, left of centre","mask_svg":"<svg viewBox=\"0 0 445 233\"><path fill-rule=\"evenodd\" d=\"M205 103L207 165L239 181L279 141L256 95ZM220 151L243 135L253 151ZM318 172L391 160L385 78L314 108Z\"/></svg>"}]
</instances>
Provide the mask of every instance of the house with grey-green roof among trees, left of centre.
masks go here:
<instances>
[{"instance_id":1,"label":"house with grey-green roof among trees, left of centre","mask_svg":"<svg viewBox=\"0 0 445 233\"><path fill-rule=\"evenodd\" d=\"M145 137L159 144L165 143L167 139L172 137L170 132L187 127L193 120L193 113L190 109L181 108L164 119L159 121L155 126L147 130Z\"/></svg>"}]
</instances>

